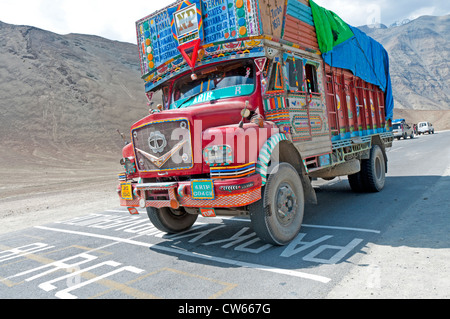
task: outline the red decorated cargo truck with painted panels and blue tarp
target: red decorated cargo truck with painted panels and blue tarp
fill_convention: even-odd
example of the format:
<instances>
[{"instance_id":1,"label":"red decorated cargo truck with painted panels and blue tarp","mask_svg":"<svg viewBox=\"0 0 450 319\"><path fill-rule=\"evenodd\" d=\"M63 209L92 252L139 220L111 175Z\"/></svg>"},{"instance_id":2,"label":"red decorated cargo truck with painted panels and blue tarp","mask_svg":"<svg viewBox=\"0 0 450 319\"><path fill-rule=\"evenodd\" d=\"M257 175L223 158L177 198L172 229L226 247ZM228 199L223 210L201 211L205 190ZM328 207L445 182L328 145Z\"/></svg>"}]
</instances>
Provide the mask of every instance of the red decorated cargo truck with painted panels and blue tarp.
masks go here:
<instances>
[{"instance_id":1,"label":"red decorated cargo truck with painted panels and blue tarp","mask_svg":"<svg viewBox=\"0 0 450 319\"><path fill-rule=\"evenodd\" d=\"M136 23L145 94L118 193L164 232L248 215L261 240L299 233L312 180L378 192L392 146L384 48L312 0L182 0ZM149 103L149 104L151 104Z\"/></svg>"}]
</instances>

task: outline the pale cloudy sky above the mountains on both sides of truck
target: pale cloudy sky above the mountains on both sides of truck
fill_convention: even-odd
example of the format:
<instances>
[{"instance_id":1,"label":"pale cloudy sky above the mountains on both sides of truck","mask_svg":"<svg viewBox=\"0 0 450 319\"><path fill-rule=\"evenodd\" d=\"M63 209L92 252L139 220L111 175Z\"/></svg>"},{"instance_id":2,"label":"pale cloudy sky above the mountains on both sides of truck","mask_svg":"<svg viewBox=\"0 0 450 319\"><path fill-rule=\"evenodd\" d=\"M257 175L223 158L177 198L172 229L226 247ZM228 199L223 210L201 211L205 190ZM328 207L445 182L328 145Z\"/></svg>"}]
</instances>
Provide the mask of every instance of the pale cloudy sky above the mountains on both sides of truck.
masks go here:
<instances>
[{"instance_id":1,"label":"pale cloudy sky above the mountains on both sides of truck","mask_svg":"<svg viewBox=\"0 0 450 319\"><path fill-rule=\"evenodd\" d=\"M174 0L0 0L0 21L136 43L135 22ZM449 0L316 0L353 25L450 14Z\"/></svg>"}]
</instances>

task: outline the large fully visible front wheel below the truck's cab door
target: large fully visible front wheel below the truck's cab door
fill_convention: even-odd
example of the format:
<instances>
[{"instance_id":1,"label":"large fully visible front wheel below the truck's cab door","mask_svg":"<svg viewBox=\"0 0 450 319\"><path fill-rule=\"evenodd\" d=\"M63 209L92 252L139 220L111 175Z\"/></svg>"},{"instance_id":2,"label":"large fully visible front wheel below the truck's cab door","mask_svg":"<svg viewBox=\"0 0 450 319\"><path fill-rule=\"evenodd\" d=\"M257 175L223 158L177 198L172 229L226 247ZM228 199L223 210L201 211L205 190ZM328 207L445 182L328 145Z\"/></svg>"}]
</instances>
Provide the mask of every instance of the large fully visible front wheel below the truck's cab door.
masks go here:
<instances>
[{"instance_id":1,"label":"large fully visible front wheel below the truck's cab door","mask_svg":"<svg viewBox=\"0 0 450 319\"><path fill-rule=\"evenodd\" d=\"M280 163L261 189L263 198L249 206L253 230L272 245L286 245L299 233L305 206L303 186L292 165Z\"/></svg>"}]
</instances>

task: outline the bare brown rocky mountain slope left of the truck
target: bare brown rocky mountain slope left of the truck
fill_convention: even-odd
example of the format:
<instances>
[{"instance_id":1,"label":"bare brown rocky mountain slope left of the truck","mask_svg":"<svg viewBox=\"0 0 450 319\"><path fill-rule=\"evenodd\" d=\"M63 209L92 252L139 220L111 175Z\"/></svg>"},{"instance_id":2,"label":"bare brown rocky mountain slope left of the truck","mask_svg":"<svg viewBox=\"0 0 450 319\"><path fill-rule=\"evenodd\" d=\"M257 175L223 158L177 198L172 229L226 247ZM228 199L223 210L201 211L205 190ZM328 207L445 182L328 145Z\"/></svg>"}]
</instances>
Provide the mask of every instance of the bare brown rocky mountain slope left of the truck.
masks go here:
<instances>
[{"instance_id":1,"label":"bare brown rocky mountain slope left of the truck","mask_svg":"<svg viewBox=\"0 0 450 319\"><path fill-rule=\"evenodd\" d=\"M148 114L135 45L0 22L2 144L107 149Z\"/></svg>"}]
</instances>

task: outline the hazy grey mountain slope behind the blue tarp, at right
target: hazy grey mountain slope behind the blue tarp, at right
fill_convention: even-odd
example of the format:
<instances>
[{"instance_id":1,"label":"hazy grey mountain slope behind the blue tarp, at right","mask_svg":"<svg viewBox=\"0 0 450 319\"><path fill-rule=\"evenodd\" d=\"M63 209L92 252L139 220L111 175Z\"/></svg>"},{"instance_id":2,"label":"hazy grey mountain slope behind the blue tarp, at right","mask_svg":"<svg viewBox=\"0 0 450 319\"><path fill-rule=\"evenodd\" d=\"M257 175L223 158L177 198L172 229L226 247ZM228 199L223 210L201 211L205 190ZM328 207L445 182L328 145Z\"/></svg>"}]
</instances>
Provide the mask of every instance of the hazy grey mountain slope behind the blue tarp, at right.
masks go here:
<instances>
[{"instance_id":1,"label":"hazy grey mountain slope behind the blue tarp, at right","mask_svg":"<svg viewBox=\"0 0 450 319\"><path fill-rule=\"evenodd\" d=\"M396 108L450 110L450 15L360 29L389 53Z\"/></svg>"}]
</instances>

